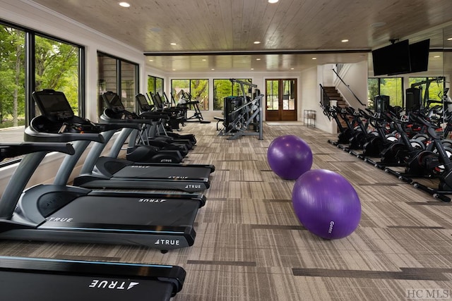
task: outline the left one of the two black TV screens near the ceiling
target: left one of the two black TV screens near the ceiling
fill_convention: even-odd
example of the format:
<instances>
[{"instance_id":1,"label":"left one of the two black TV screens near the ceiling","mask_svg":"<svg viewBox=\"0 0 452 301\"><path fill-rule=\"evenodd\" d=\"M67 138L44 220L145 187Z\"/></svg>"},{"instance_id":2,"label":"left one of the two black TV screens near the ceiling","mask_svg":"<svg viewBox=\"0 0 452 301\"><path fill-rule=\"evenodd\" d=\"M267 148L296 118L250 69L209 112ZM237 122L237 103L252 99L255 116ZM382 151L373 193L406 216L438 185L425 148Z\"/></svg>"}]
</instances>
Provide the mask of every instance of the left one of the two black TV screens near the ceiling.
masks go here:
<instances>
[{"instance_id":1,"label":"left one of the two black TV screens near the ceiling","mask_svg":"<svg viewBox=\"0 0 452 301\"><path fill-rule=\"evenodd\" d=\"M408 39L372 51L374 75L410 73L410 44Z\"/></svg>"}]
</instances>

